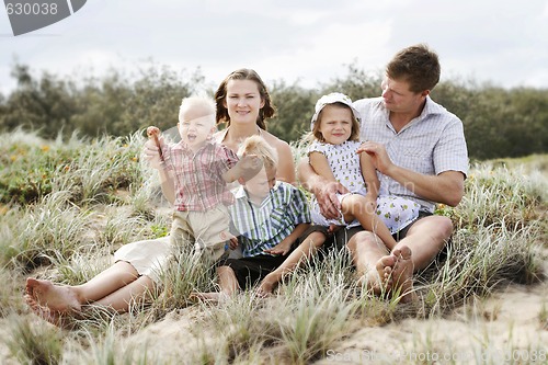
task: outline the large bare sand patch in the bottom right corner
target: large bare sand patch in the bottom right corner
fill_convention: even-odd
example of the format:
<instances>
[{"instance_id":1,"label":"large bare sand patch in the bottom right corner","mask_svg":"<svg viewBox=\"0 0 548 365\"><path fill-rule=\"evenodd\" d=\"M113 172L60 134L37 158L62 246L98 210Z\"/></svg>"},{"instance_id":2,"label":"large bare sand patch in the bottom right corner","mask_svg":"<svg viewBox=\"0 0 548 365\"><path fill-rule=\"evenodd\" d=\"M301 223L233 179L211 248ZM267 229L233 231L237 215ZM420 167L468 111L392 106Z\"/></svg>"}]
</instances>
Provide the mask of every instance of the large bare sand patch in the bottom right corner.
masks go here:
<instances>
[{"instance_id":1,"label":"large bare sand patch in the bottom right corner","mask_svg":"<svg viewBox=\"0 0 548 365\"><path fill-rule=\"evenodd\" d=\"M475 308L444 319L406 319L364 328L327 352L316 364L503 364L538 355L548 363L548 284L510 286ZM544 324L544 326L543 326ZM489 362L487 362L489 363ZM523 364L527 362L516 362Z\"/></svg>"}]
</instances>

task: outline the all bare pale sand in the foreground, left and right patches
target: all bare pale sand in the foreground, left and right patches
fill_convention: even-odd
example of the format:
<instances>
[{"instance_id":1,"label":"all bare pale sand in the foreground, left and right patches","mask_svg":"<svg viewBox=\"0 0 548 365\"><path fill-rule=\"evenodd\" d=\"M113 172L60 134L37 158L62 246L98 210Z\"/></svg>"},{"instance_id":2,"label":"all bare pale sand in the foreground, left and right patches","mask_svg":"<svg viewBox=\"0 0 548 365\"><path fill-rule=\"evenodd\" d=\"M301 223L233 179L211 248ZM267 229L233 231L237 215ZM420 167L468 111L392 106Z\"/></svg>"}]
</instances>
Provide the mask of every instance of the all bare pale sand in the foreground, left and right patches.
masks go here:
<instances>
[{"instance_id":1,"label":"all bare pale sand in the foreground, left and right patches","mask_svg":"<svg viewBox=\"0 0 548 365\"><path fill-rule=\"evenodd\" d=\"M548 273L547 260L544 265ZM198 346L218 345L213 333L194 334L198 327L203 330L196 324L204 322L204 316L197 306L173 311L125 339L123 346L139 349L147 344L162 354L162 360L189 358ZM333 344L324 358L315 364L548 364L546 316L548 280L534 285L510 285L445 318L364 327ZM32 320L41 321L36 317ZM8 324L8 319L0 319L2 339L11 335ZM533 362L535 358L537 362ZM3 341L0 363L18 364Z\"/></svg>"}]
</instances>

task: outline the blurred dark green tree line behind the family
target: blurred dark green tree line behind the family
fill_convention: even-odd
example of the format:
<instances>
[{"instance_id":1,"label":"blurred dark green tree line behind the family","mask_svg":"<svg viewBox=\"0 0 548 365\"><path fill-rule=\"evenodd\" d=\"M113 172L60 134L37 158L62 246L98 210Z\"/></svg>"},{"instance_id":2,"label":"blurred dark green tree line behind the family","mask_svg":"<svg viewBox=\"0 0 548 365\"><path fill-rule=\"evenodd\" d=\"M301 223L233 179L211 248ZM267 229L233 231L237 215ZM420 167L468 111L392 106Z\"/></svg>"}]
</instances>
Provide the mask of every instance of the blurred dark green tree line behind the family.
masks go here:
<instances>
[{"instance_id":1,"label":"blurred dark green tree line behind the family","mask_svg":"<svg viewBox=\"0 0 548 365\"><path fill-rule=\"evenodd\" d=\"M203 90L213 94L215 88L207 85L199 71L186 75L155 65L133 76L112 69L101 77L60 78L49 72L36 77L28 66L16 64L11 76L16 88L8 95L0 93L0 132L32 129L45 138L75 132L90 137L127 136L149 125L169 129L178 122L182 98ZM313 105L322 94L341 91L352 100L378 96L380 80L380 71L350 65L345 77L315 89L284 80L267 82L277 109L269 130L297 141L308 130ZM463 121L472 159L547 152L547 89L509 90L457 79L441 82L431 95Z\"/></svg>"}]
</instances>

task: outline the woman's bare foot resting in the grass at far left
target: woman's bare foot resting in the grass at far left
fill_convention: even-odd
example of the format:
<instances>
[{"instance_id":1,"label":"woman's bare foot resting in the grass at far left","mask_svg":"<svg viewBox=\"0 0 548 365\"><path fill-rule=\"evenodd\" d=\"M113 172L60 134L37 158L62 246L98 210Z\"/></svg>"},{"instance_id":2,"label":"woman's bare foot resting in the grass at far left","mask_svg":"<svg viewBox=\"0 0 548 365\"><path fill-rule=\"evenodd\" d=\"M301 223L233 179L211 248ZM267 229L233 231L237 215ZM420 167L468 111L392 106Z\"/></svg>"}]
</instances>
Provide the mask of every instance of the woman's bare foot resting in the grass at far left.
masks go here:
<instances>
[{"instance_id":1,"label":"woman's bare foot resting in the grass at far left","mask_svg":"<svg viewBox=\"0 0 548 365\"><path fill-rule=\"evenodd\" d=\"M47 307L52 312L68 313L81 310L81 304L70 286L54 285L49 281L28 277L26 280L26 295L36 305Z\"/></svg>"}]
</instances>

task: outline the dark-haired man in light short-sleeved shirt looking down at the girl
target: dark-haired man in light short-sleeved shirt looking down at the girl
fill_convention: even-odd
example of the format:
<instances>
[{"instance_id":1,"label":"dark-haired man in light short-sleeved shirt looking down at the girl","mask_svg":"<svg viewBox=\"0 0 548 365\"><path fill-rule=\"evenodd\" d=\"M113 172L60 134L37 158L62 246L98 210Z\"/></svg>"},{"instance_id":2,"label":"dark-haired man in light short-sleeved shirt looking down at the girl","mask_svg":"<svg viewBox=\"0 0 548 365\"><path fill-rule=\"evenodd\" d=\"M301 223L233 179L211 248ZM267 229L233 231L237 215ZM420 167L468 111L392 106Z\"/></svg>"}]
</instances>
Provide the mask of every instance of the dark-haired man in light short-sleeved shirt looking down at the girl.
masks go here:
<instances>
[{"instance_id":1,"label":"dark-haired man in light short-sleeved shirt looking down at the girl","mask_svg":"<svg viewBox=\"0 0 548 365\"><path fill-rule=\"evenodd\" d=\"M375 293L392 292L402 301L413 300L412 276L426 267L453 232L449 218L433 216L435 203L456 206L464 195L468 153L463 123L429 96L439 81L437 55L425 45L402 49L386 68L380 98L354 103L362 115L358 152L367 152L384 174L383 190L421 205L420 218L396 235L391 250L361 227L340 230L347 241L361 281ZM299 179L313 192L322 213L339 215L335 193L345 193L301 162Z\"/></svg>"}]
</instances>

